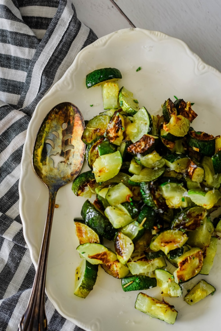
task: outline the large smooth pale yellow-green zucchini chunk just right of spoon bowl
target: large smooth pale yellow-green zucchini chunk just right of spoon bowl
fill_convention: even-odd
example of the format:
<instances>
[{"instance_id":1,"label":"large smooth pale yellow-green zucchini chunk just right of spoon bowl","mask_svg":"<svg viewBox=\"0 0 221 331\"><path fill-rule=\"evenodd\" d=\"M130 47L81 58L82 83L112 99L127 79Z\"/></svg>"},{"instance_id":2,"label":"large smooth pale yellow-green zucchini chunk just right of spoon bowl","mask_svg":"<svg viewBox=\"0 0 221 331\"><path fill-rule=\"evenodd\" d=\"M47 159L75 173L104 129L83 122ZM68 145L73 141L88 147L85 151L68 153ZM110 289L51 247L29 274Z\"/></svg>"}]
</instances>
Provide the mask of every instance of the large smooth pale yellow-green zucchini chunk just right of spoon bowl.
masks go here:
<instances>
[{"instance_id":1,"label":"large smooth pale yellow-green zucchini chunk just right of spoon bowl","mask_svg":"<svg viewBox=\"0 0 221 331\"><path fill-rule=\"evenodd\" d=\"M122 157L119 151L98 157L93 163L93 173L96 182L107 181L118 174L122 165Z\"/></svg>"}]
</instances>

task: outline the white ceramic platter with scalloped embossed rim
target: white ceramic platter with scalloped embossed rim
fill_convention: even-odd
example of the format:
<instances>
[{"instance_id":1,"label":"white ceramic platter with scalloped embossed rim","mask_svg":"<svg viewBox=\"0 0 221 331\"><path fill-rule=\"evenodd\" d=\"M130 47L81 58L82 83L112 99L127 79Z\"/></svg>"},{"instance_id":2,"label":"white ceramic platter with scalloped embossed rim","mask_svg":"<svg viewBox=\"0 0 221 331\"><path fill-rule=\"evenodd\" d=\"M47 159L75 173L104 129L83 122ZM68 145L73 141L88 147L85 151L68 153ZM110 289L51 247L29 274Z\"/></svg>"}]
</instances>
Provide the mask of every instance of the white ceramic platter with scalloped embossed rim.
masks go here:
<instances>
[{"instance_id":1,"label":"white ceramic platter with scalloped embossed rim","mask_svg":"<svg viewBox=\"0 0 221 331\"><path fill-rule=\"evenodd\" d=\"M63 101L74 103L84 119L102 112L101 88L87 90L85 76L98 68L118 68L123 78L119 86L134 93L139 105L150 114L162 114L161 104L174 95L194 102L198 114L194 129L218 135L221 133L221 74L204 64L187 45L160 32L139 28L124 29L98 39L84 48L65 75L37 105L28 126L20 179L20 212L24 236L31 259L37 265L48 193L31 166L36 133L47 112ZM136 71L141 67L140 71ZM93 104L93 107L90 105ZM83 170L87 169L84 166ZM71 184L59 190L52 226L46 293L57 310L85 330L90 331L153 331L219 329L221 300L221 247L209 276L197 276L184 285L183 294L204 278L216 287L216 293L194 306L183 298L166 298L178 310L175 324L149 318L134 308L138 292L123 292L121 281L99 268L93 291L86 299L74 293L75 269L80 262L76 247L74 217L80 217L84 198L76 197ZM144 291L162 299L159 288Z\"/></svg>"}]
</instances>

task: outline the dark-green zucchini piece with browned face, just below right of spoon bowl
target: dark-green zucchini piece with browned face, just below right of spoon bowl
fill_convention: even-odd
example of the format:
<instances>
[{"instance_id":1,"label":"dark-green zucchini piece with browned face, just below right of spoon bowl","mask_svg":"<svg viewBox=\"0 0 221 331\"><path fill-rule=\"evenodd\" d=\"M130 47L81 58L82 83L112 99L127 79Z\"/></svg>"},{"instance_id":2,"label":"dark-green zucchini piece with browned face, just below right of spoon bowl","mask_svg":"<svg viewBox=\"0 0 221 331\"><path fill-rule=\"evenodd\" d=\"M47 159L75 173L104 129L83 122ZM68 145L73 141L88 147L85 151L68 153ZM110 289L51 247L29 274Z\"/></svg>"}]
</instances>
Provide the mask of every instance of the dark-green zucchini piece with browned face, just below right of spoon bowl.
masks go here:
<instances>
[{"instance_id":1,"label":"dark-green zucchini piece with browned face, just below right of spoon bowl","mask_svg":"<svg viewBox=\"0 0 221 331\"><path fill-rule=\"evenodd\" d=\"M90 198L94 193L95 177L91 171L82 172L72 183L72 191L78 197Z\"/></svg>"}]
</instances>

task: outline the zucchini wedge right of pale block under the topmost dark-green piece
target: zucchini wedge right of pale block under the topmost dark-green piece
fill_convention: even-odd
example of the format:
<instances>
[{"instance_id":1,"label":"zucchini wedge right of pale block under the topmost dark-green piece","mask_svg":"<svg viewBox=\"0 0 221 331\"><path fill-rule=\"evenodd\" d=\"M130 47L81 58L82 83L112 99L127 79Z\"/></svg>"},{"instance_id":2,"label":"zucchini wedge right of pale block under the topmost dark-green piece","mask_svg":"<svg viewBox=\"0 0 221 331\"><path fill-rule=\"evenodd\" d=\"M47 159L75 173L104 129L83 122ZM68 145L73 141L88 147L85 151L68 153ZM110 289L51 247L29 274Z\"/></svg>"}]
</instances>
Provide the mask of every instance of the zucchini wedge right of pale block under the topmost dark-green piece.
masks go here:
<instances>
[{"instance_id":1,"label":"zucchini wedge right of pale block under the topmost dark-green piece","mask_svg":"<svg viewBox=\"0 0 221 331\"><path fill-rule=\"evenodd\" d=\"M130 116L139 110L138 101L134 98L133 93L124 86L119 91L118 102L123 111Z\"/></svg>"}]
</instances>

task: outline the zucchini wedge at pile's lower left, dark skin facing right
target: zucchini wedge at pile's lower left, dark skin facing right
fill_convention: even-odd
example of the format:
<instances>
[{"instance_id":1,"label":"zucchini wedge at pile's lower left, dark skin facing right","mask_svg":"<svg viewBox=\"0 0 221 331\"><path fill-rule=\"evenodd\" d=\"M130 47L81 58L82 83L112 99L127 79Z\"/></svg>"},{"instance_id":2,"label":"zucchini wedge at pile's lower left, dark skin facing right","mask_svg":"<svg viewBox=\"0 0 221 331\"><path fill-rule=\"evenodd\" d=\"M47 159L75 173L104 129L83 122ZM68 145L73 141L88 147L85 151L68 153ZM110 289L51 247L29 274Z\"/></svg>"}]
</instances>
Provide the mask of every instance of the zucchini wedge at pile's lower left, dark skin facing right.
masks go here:
<instances>
[{"instance_id":1,"label":"zucchini wedge at pile's lower left, dark skin facing right","mask_svg":"<svg viewBox=\"0 0 221 331\"><path fill-rule=\"evenodd\" d=\"M97 279L98 265L91 264L82 259L75 272L74 294L80 298L86 298L92 291Z\"/></svg>"}]
</instances>

